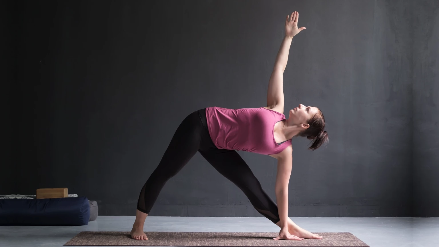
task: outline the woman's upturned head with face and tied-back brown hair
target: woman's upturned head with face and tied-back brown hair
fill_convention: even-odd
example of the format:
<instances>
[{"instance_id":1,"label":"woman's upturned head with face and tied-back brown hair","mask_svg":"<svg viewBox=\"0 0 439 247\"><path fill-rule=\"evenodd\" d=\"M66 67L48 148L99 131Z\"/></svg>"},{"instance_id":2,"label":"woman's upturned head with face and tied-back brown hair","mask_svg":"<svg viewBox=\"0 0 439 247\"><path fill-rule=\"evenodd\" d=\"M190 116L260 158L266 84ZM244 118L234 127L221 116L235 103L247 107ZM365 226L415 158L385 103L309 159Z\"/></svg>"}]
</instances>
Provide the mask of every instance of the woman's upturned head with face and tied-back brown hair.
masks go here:
<instances>
[{"instance_id":1,"label":"woman's upturned head with face and tied-back brown hair","mask_svg":"<svg viewBox=\"0 0 439 247\"><path fill-rule=\"evenodd\" d=\"M313 140L308 149L314 151L328 141L328 134L324 131L325 118L317 107L299 104L299 107L290 110L288 122L301 129L298 136Z\"/></svg>"}]
</instances>

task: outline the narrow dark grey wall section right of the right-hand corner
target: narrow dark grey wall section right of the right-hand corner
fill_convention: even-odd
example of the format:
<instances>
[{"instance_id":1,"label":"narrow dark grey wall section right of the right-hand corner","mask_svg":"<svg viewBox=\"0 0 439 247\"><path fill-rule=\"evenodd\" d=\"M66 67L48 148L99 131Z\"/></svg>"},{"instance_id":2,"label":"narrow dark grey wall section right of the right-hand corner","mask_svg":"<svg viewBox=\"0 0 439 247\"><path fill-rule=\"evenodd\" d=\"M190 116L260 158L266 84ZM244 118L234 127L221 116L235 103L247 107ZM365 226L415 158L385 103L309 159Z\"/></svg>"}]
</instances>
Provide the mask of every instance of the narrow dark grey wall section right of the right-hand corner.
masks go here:
<instances>
[{"instance_id":1,"label":"narrow dark grey wall section right of the right-hand corner","mask_svg":"<svg viewBox=\"0 0 439 247\"><path fill-rule=\"evenodd\" d=\"M439 217L439 2L413 9L413 216Z\"/></svg>"}]
</instances>

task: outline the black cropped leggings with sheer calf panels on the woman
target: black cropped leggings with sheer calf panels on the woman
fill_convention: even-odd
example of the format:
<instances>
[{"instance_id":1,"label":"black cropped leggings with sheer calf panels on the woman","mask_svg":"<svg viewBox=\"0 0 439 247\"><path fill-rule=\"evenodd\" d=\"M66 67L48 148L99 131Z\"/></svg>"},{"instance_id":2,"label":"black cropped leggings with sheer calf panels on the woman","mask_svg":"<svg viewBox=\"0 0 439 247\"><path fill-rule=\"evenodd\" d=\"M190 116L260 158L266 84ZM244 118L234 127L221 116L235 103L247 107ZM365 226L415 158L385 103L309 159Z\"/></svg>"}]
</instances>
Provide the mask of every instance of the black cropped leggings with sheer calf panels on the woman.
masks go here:
<instances>
[{"instance_id":1,"label":"black cropped leggings with sheer calf panels on the woman","mask_svg":"<svg viewBox=\"0 0 439 247\"><path fill-rule=\"evenodd\" d=\"M218 149L207 128L205 109L189 114L175 131L162 160L140 191L137 209L149 214L165 183L175 176L195 153L201 155L248 197L253 207L273 223L279 222L277 205L236 150Z\"/></svg>"}]
</instances>

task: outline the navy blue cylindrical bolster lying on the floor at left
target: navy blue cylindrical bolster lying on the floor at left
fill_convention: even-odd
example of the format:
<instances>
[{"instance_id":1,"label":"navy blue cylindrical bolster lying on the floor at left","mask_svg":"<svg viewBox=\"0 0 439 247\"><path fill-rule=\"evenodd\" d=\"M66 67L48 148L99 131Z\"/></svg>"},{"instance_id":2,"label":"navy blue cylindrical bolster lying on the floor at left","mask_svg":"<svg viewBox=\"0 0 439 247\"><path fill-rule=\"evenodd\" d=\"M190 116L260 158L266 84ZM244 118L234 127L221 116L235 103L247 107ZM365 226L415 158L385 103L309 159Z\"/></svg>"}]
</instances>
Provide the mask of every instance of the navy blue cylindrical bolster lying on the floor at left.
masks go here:
<instances>
[{"instance_id":1,"label":"navy blue cylindrical bolster lying on the floor at left","mask_svg":"<svg viewBox=\"0 0 439 247\"><path fill-rule=\"evenodd\" d=\"M0 199L0 225L88 225L85 196L50 199Z\"/></svg>"}]
</instances>

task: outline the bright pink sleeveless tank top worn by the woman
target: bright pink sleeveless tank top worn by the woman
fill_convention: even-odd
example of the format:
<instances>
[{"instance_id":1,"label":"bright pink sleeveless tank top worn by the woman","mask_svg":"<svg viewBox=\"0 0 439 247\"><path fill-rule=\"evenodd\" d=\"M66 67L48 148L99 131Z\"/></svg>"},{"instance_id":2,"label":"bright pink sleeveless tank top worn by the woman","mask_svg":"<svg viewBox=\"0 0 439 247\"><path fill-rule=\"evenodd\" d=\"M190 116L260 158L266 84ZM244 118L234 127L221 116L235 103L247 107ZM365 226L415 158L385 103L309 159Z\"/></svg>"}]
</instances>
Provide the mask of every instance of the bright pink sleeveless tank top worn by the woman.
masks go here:
<instances>
[{"instance_id":1,"label":"bright pink sleeveless tank top worn by the woman","mask_svg":"<svg viewBox=\"0 0 439 247\"><path fill-rule=\"evenodd\" d=\"M273 110L214 106L206 108L206 118L212 142L219 149L276 154L291 145L291 140L281 145L274 140L274 124L285 116Z\"/></svg>"}]
</instances>

